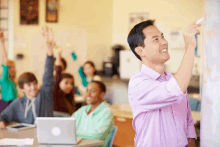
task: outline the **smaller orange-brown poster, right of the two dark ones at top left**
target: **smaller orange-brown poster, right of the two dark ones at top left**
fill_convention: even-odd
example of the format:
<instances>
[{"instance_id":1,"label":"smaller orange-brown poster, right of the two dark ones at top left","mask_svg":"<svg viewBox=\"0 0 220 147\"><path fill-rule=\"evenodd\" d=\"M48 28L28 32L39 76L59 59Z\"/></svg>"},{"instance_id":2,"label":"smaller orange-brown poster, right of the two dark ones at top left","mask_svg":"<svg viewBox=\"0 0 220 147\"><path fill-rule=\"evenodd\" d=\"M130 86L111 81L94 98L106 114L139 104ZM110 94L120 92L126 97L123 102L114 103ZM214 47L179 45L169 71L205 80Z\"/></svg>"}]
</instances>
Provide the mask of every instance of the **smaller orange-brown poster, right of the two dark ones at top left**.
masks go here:
<instances>
[{"instance_id":1,"label":"smaller orange-brown poster, right of the two dark ones at top left","mask_svg":"<svg viewBox=\"0 0 220 147\"><path fill-rule=\"evenodd\" d=\"M46 1L46 22L58 22L58 0Z\"/></svg>"}]
</instances>

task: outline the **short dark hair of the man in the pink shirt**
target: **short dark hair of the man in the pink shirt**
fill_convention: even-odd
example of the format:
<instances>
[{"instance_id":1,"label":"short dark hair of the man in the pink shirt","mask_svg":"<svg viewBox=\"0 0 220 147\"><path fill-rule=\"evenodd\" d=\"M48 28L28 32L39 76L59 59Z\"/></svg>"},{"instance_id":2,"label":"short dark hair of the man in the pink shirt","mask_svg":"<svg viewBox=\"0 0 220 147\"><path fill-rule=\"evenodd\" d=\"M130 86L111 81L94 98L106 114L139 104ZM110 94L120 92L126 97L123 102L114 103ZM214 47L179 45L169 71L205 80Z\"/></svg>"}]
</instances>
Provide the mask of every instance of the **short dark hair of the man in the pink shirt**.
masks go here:
<instances>
[{"instance_id":1,"label":"short dark hair of the man in the pink shirt","mask_svg":"<svg viewBox=\"0 0 220 147\"><path fill-rule=\"evenodd\" d=\"M141 57L135 52L135 48L138 46L144 46L144 39L146 38L146 36L144 35L144 33L142 32L143 29L154 25L155 20L147 20L147 21L143 21L137 25L135 25L127 38L128 44L132 50L132 52L134 53L134 55L141 60Z\"/></svg>"}]
</instances>

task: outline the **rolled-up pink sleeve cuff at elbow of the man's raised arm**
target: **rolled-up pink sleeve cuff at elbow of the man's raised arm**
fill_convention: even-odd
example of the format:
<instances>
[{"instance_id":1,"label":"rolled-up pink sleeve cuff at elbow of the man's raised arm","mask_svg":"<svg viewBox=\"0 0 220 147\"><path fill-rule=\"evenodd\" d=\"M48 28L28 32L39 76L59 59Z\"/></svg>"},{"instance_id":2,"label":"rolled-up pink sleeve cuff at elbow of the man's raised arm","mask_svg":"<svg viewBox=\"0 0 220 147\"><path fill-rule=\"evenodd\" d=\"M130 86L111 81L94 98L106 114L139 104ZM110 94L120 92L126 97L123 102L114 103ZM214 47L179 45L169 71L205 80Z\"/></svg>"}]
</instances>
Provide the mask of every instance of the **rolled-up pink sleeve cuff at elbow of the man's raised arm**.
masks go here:
<instances>
[{"instance_id":1,"label":"rolled-up pink sleeve cuff at elbow of the man's raised arm","mask_svg":"<svg viewBox=\"0 0 220 147\"><path fill-rule=\"evenodd\" d=\"M176 79L172 77L169 82L166 84L167 90L173 95L177 96L177 103L181 102L181 100L187 96L187 92L183 94L180 86L178 85Z\"/></svg>"}]
</instances>

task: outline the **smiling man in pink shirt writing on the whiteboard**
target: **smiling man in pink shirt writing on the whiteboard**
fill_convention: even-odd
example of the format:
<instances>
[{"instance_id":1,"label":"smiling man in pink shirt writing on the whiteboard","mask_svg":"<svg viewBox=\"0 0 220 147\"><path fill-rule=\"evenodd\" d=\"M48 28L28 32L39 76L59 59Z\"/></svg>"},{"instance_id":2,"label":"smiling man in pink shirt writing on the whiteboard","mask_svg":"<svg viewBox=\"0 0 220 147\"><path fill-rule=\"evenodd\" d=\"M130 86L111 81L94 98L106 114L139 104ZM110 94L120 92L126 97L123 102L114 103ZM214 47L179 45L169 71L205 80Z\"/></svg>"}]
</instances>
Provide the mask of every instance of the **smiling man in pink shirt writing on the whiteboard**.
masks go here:
<instances>
[{"instance_id":1,"label":"smiling man in pink shirt writing on the whiteboard","mask_svg":"<svg viewBox=\"0 0 220 147\"><path fill-rule=\"evenodd\" d=\"M141 71L129 82L128 97L133 111L137 147L194 147L195 129L187 98L192 75L195 22L183 33L186 51L173 76L164 63L170 59L168 42L153 20L141 22L128 35L135 56L142 61Z\"/></svg>"}]
</instances>

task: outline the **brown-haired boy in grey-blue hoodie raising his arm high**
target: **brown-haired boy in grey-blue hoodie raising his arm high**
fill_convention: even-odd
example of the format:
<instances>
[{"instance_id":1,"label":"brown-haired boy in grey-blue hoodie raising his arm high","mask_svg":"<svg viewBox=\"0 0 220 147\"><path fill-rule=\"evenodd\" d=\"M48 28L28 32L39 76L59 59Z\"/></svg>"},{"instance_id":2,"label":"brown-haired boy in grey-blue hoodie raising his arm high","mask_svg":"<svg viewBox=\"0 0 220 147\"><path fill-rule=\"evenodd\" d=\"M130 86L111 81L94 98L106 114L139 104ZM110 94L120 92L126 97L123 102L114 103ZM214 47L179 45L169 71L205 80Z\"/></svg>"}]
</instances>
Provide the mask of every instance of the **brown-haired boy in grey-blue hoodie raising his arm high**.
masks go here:
<instances>
[{"instance_id":1,"label":"brown-haired boy in grey-blue hoodie raising his arm high","mask_svg":"<svg viewBox=\"0 0 220 147\"><path fill-rule=\"evenodd\" d=\"M18 78L18 85L25 96L15 99L0 114L0 128L5 128L10 122L34 124L36 117L53 117L53 66L51 46L47 49L42 88L38 89L38 82L33 73L23 73Z\"/></svg>"}]
</instances>

